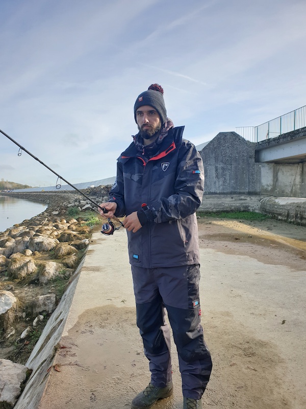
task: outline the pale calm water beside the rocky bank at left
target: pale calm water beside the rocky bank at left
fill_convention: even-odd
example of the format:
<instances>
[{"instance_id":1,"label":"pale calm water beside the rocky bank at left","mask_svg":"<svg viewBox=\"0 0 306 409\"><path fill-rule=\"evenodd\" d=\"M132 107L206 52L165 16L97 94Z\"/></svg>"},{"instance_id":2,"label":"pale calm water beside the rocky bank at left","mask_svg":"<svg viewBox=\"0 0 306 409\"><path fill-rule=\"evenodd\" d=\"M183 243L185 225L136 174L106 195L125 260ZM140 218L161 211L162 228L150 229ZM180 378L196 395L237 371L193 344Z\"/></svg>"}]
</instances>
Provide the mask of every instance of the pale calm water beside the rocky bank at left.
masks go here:
<instances>
[{"instance_id":1,"label":"pale calm water beside the rocky bank at left","mask_svg":"<svg viewBox=\"0 0 306 409\"><path fill-rule=\"evenodd\" d=\"M0 196L0 232L4 232L16 223L43 212L47 206L30 200L16 197Z\"/></svg>"}]
</instances>

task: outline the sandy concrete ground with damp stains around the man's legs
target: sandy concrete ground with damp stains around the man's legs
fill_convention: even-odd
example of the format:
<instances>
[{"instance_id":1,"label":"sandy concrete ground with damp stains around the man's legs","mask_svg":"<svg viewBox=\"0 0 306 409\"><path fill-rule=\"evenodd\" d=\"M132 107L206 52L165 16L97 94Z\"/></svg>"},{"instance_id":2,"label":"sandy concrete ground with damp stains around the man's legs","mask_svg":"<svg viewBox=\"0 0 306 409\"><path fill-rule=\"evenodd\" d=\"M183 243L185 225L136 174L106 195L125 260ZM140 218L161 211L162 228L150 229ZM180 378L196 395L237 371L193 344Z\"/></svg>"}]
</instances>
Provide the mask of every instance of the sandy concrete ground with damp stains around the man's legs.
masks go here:
<instances>
[{"instance_id":1,"label":"sandy concrete ground with damp stains around the man's legs","mask_svg":"<svg viewBox=\"0 0 306 409\"><path fill-rule=\"evenodd\" d=\"M214 363L203 407L304 409L306 228L198 221L202 325ZM131 407L149 381L135 321L125 232L94 233L40 409ZM172 345L175 393L156 409L183 407Z\"/></svg>"}]
</instances>

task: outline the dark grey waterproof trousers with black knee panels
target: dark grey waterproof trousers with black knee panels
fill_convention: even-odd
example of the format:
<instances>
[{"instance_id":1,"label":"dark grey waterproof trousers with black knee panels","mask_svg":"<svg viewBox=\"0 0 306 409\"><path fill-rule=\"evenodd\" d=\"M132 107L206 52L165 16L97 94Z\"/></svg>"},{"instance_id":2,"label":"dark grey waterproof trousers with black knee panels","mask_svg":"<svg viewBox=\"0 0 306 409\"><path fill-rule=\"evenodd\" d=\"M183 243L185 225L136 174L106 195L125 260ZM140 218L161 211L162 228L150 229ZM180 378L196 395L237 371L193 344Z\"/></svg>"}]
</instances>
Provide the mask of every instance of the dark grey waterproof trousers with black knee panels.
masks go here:
<instances>
[{"instance_id":1,"label":"dark grey waterproof trousers with black knee panels","mask_svg":"<svg viewBox=\"0 0 306 409\"><path fill-rule=\"evenodd\" d=\"M171 380L170 330L179 355L183 396L200 399L212 371L212 360L200 325L199 264L165 268L132 265L137 326L149 360L151 383Z\"/></svg>"}]
</instances>

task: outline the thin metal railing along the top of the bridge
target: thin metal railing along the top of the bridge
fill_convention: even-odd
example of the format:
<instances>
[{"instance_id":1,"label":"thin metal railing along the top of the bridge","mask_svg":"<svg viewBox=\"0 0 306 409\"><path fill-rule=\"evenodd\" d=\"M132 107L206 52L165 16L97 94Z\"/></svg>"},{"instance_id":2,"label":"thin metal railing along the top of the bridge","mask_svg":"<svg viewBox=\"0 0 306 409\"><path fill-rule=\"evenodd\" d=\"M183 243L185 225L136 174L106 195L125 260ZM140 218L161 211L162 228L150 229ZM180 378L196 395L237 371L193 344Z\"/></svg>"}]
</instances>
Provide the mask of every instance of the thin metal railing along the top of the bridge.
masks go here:
<instances>
[{"instance_id":1,"label":"thin metal railing along the top of the bridge","mask_svg":"<svg viewBox=\"0 0 306 409\"><path fill-rule=\"evenodd\" d=\"M276 138L306 126L306 105L258 126L238 126L236 132L251 142Z\"/></svg>"}]
</instances>

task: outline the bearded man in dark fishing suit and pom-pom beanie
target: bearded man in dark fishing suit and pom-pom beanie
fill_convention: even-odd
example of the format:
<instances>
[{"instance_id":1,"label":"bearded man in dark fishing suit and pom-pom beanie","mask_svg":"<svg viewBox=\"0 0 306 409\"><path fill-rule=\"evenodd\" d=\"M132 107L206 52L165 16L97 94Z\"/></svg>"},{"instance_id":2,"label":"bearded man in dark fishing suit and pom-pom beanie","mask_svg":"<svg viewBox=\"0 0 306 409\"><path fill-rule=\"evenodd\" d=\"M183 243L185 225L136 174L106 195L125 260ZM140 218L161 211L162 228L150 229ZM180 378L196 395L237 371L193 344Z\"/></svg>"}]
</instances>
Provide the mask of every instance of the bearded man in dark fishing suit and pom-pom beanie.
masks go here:
<instances>
[{"instance_id":1,"label":"bearded man in dark fishing suit and pom-pom beanie","mask_svg":"<svg viewBox=\"0 0 306 409\"><path fill-rule=\"evenodd\" d=\"M167 310L179 354L184 409L202 407L212 361L200 325L199 249L195 211L203 166L184 127L167 118L163 89L151 85L134 106L139 132L120 155L103 216L126 216L137 326L151 380L132 401L148 408L173 392ZM102 213L101 213L102 214Z\"/></svg>"}]
</instances>

